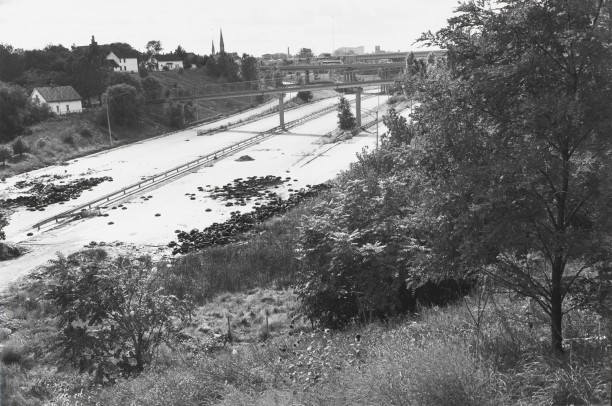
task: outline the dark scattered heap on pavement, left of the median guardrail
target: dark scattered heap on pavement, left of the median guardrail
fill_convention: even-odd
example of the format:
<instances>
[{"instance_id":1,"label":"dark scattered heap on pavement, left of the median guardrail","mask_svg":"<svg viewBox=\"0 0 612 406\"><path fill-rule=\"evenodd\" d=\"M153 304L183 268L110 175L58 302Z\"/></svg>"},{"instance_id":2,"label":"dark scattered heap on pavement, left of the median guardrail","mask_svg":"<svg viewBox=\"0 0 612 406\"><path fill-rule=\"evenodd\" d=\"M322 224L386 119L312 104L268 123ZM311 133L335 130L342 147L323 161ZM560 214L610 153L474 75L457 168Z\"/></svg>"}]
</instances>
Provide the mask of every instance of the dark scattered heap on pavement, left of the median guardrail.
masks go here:
<instances>
[{"instance_id":1,"label":"dark scattered heap on pavement, left of the median guardrail","mask_svg":"<svg viewBox=\"0 0 612 406\"><path fill-rule=\"evenodd\" d=\"M56 184L52 181L17 182L15 186L18 189L29 187L29 190L25 192L27 194L12 199L1 199L0 208L27 207L29 211L44 210L46 206L51 204L63 204L63 202L67 202L68 200L77 199L84 190L91 190L94 186L105 181L112 182L113 178L110 176L103 176L98 178L76 179L66 184Z\"/></svg>"}]
</instances>

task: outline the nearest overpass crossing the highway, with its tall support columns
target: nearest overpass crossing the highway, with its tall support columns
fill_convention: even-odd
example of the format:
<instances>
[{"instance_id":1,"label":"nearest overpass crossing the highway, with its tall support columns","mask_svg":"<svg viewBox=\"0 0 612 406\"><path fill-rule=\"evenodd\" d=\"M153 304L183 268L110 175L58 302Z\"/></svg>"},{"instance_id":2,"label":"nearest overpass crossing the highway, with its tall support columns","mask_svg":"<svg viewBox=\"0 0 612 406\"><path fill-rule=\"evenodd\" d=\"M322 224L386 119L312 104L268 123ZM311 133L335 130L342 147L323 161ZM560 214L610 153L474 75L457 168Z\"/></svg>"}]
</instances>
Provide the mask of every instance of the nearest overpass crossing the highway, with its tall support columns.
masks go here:
<instances>
[{"instance_id":1,"label":"nearest overpass crossing the highway, with its tall support columns","mask_svg":"<svg viewBox=\"0 0 612 406\"><path fill-rule=\"evenodd\" d=\"M263 83L262 83L263 82ZM277 79L254 81L254 82L237 82L224 85L202 86L198 87L195 94L188 94L173 97L173 101L189 101L189 100L218 100L231 99L234 97L248 96L263 96L266 94L278 95L278 113L280 118L280 127L285 127L284 102L285 95L289 92L308 92L313 90L340 90L340 89L355 89L355 119L357 126L361 126L361 93L364 87L378 87L386 89L386 86L398 83L393 79L378 79L378 80L363 80L340 83L315 83L315 84L283 84ZM145 100L146 104L161 104L167 102L168 99L149 98ZM182 107L184 108L184 106Z\"/></svg>"}]
</instances>

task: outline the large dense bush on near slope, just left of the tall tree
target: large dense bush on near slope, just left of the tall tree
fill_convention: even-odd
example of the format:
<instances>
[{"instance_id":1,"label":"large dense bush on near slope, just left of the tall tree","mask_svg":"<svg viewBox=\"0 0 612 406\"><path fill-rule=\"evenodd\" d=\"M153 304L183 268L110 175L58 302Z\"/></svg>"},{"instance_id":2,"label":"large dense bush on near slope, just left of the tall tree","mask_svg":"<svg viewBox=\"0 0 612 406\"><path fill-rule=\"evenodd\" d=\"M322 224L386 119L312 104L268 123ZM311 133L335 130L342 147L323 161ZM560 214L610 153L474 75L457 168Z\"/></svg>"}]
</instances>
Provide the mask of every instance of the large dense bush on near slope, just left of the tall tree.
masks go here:
<instances>
[{"instance_id":1,"label":"large dense bush on near slope, just left of the tall tree","mask_svg":"<svg viewBox=\"0 0 612 406\"><path fill-rule=\"evenodd\" d=\"M416 301L443 305L470 290L453 275L427 276L429 252L415 208L420 183L411 150L364 152L331 196L305 216L300 228L302 311L328 327L413 311Z\"/></svg>"}]
</instances>

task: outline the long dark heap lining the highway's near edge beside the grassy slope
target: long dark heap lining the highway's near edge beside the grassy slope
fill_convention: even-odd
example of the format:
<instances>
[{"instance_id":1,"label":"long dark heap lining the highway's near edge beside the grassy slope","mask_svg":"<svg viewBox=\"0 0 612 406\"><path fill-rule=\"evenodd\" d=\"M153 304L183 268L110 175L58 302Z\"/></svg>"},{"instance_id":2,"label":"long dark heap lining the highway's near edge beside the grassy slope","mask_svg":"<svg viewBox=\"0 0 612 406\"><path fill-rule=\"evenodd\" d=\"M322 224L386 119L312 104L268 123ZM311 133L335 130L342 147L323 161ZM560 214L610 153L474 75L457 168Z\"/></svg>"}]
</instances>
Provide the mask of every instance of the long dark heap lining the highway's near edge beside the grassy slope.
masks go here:
<instances>
[{"instance_id":1,"label":"long dark heap lining the highway's near edge beside the grassy slope","mask_svg":"<svg viewBox=\"0 0 612 406\"><path fill-rule=\"evenodd\" d=\"M189 232L176 230L178 242L171 241L168 246L173 249L172 254L176 255L236 242L239 234L252 230L255 224L286 213L305 199L314 197L330 187L328 184L309 186L306 189L293 191L286 200L274 194L267 203L260 204L249 213L231 212L231 218L223 223L213 223L201 231L197 228Z\"/></svg>"}]
</instances>

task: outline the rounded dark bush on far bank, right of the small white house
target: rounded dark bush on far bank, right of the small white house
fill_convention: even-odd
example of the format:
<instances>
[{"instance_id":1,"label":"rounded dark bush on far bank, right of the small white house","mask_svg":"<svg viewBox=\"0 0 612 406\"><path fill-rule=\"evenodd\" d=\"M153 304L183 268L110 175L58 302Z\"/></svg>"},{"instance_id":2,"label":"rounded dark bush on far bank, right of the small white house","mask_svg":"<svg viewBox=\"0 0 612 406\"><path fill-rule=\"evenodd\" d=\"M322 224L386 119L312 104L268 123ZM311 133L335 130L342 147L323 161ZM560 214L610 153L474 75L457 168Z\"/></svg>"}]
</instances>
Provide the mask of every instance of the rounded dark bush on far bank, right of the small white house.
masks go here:
<instances>
[{"instance_id":1,"label":"rounded dark bush on far bank, right of the small white house","mask_svg":"<svg viewBox=\"0 0 612 406\"><path fill-rule=\"evenodd\" d=\"M134 86L119 84L109 87L104 94L111 122L120 126L134 126L142 115L143 98Z\"/></svg>"}]
</instances>

